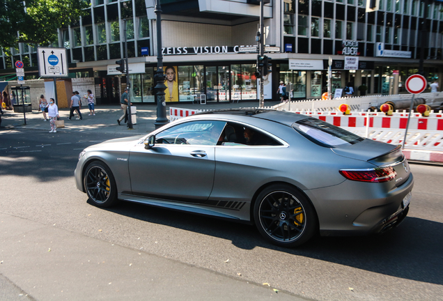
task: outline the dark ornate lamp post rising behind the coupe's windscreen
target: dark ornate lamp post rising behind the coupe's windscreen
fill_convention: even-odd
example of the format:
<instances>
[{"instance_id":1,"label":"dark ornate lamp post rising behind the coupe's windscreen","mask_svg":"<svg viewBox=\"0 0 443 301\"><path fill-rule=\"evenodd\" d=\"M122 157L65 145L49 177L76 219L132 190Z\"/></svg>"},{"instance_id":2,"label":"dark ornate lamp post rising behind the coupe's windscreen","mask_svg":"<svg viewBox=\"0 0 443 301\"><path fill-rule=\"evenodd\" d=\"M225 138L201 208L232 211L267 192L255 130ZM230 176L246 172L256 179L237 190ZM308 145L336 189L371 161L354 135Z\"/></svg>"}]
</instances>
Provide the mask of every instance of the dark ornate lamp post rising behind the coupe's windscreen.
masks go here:
<instances>
[{"instance_id":1,"label":"dark ornate lamp post rising behind the coupe's windscreen","mask_svg":"<svg viewBox=\"0 0 443 301\"><path fill-rule=\"evenodd\" d=\"M155 72L155 98L157 99L157 119L155 120L155 128L160 128L168 123L166 118L166 102L164 101L164 72L163 72L163 56L162 56L162 6L160 0L155 1L155 15L157 15L157 72Z\"/></svg>"}]
</instances>

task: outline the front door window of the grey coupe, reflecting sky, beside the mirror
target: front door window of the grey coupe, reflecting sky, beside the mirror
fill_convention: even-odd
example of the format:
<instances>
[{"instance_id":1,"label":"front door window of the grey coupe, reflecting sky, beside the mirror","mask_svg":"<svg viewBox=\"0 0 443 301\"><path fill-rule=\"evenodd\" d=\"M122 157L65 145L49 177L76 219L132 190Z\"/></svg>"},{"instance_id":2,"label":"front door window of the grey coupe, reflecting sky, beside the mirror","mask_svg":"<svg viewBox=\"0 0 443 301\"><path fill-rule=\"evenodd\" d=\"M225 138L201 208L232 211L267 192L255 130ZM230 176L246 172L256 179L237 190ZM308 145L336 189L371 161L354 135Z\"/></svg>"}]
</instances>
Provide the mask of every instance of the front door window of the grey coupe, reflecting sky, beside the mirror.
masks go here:
<instances>
[{"instance_id":1,"label":"front door window of the grey coupe, reflecting sky, beside the mirror","mask_svg":"<svg viewBox=\"0 0 443 301\"><path fill-rule=\"evenodd\" d=\"M155 135L155 144L191 144L215 146L226 122L191 121L168 128Z\"/></svg>"}]
</instances>

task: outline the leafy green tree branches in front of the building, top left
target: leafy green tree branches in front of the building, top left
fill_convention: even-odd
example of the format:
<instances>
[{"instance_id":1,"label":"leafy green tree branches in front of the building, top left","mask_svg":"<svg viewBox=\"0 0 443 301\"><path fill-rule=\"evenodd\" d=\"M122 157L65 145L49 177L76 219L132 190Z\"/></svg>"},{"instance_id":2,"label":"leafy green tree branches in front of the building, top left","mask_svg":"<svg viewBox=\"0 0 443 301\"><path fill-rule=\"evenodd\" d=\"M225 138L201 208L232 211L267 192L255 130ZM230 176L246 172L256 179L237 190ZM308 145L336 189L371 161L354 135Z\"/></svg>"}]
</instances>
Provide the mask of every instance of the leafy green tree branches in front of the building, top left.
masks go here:
<instances>
[{"instance_id":1,"label":"leafy green tree branches in front of the building, top left","mask_svg":"<svg viewBox=\"0 0 443 301\"><path fill-rule=\"evenodd\" d=\"M7 54L18 43L50 45L57 29L78 22L89 6L85 0L0 0L0 45Z\"/></svg>"}]
</instances>

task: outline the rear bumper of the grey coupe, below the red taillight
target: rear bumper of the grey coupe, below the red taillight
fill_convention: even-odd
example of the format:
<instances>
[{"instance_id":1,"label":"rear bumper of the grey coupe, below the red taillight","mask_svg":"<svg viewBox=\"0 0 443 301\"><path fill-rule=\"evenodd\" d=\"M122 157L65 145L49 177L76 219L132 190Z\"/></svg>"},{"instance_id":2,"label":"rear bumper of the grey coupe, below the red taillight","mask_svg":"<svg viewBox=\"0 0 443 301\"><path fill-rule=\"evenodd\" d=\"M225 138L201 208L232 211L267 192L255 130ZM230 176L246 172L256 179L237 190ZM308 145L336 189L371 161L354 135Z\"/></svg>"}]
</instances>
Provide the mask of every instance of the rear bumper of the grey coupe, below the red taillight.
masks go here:
<instances>
[{"instance_id":1,"label":"rear bumper of the grey coupe, below the red taillight","mask_svg":"<svg viewBox=\"0 0 443 301\"><path fill-rule=\"evenodd\" d=\"M349 181L350 182L350 181ZM354 236L382 233L398 226L405 219L414 186L412 174L399 187L384 190L383 185L372 185L373 189L355 189L355 183L342 183L317 192L314 203L318 213L320 235ZM353 190L351 190L353 188ZM321 197L319 197L321 196ZM315 202L315 201L313 201Z\"/></svg>"}]
</instances>

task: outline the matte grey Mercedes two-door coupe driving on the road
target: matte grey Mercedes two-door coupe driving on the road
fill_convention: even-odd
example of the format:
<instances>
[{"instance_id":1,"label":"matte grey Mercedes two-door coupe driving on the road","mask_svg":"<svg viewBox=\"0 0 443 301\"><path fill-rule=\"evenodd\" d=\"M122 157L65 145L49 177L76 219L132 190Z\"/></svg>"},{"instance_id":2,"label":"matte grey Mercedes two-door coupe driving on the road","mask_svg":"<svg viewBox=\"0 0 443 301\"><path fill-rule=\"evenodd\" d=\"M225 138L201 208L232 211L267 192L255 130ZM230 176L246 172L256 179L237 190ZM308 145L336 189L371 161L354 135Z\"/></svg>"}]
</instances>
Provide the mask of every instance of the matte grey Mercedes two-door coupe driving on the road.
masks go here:
<instances>
[{"instance_id":1,"label":"matte grey Mercedes two-door coupe driving on the road","mask_svg":"<svg viewBox=\"0 0 443 301\"><path fill-rule=\"evenodd\" d=\"M414 185L400 146L265 109L209 111L89 146L75 180L95 206L124 200L247 222L283 247L398 226Z\"/></svg>"}]
</instances>

